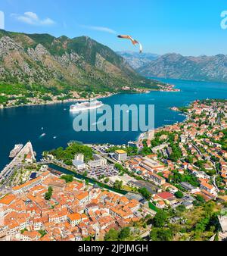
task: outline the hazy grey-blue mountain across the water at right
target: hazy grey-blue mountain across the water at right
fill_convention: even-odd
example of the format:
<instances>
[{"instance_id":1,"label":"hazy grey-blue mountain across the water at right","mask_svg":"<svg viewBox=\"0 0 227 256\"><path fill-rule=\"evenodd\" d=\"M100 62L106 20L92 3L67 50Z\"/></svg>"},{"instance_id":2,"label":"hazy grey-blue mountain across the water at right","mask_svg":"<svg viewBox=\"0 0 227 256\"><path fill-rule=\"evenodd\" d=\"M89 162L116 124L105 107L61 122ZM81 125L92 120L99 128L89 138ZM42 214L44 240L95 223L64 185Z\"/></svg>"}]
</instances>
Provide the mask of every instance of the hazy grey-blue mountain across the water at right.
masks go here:
<instances>
[{"instance_id":1,"label":"hazy grey-blue mountain across the water at right","mask_svg":"<svg viewBox=\"0 0 227 256\"><path fill-rule=\"evenodd\" d=\"M137 70L145 76L225 83L227 55L185 57L175 53L166 54Z\"/></svg>"}]
</instances>

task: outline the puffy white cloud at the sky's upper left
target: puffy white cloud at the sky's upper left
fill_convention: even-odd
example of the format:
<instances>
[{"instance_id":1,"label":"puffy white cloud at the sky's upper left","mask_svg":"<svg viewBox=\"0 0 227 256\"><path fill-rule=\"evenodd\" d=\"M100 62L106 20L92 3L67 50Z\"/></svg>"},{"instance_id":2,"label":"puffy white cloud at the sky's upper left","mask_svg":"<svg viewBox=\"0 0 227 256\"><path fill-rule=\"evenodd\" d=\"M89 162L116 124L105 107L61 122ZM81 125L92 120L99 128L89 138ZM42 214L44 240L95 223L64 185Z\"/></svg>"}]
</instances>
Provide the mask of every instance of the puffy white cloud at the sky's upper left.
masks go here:
<instances>
[{"instance_id":1,"label":"puffy white cloud at the sky's upper left","mask_svg":"<svg viewBox=\"0 0 227 256\"><path fill-rule=\"evenodd\" d=\"M39 16L32 11L26 11L23 15L11 14L11 17L14 17L20 22L36 26L51 26L55 23L54 20L51 20L51 18L49 17L45 19L40 19Z\"/></svg>"}]
</instances>

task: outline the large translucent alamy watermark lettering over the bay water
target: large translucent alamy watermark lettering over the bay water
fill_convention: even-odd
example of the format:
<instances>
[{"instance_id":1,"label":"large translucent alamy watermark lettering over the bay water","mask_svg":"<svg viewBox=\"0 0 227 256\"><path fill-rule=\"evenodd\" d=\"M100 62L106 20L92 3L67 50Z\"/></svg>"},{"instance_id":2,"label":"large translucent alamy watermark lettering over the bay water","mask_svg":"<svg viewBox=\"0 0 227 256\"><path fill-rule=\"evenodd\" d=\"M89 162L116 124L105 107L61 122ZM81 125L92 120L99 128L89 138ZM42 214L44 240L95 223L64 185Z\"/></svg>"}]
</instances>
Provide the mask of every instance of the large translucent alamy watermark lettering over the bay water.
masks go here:
<instances>
[{"instance_id":1,"label":"large translucent alamy watermark lettering over the bay water","mask_svg":"<svg viewBox=\"0 0 227 256\"><path fill-rule=\"evenodd\" d=\"M154 105L103 105L79 111L73 120L76 132L148 132L154 130Z\"/></svg>"}]
</instances>

